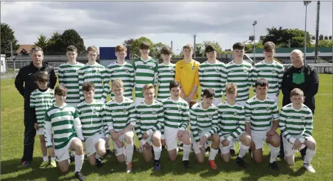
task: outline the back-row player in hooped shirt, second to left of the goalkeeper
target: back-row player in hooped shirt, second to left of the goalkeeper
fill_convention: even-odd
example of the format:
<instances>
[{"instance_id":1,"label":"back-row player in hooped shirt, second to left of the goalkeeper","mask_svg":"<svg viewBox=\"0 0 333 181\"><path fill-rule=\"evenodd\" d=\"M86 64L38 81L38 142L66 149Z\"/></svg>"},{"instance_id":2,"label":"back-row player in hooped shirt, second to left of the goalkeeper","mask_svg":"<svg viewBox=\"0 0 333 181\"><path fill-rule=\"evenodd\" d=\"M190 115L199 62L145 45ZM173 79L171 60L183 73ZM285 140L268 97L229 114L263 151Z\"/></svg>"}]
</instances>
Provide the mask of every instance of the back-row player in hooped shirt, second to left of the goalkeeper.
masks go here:
<instances>
[{"instance_id":1,"label":"back-row player in hooped shirt, second to left of the goalkeeper","mask_svg":"<svg viewBox=\"0 0 333 181\"><path fill-rule=\"evenodd\" d=\"M141 42L139 50L141 57L134 60L135 71L135 105L144 101L142 87L146 84L156 85L157 83L157 62L148 53L151 45L148 42Z\"/></svg>"}]
</instances>

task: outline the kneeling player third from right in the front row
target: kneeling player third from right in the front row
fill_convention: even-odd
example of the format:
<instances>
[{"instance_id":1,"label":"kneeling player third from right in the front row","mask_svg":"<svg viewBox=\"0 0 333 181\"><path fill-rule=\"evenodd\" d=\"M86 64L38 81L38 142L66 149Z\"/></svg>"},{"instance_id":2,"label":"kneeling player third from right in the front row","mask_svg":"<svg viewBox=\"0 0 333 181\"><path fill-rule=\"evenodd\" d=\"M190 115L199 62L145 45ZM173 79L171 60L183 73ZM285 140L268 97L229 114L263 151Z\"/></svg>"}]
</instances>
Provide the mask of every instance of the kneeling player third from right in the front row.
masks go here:
<instances>
[{"instance_id":1,"label":"kneeling player third from right in the front row","mask_svg":"<svg viewBox=\"0 0 333 181\"><path fill-rule=\"evenodd\" d=\"M219 134L221 157L225 162L230 160L230 146L234 142L241 141L241 148L236 162L239 166L246 168L243 160L248 148L250 148L251 137L245 132L245 112L243 106L237 103L237 85L228 83L225 87L227 101L218 105L219 108Z\"/></svg>"}]
</instances>

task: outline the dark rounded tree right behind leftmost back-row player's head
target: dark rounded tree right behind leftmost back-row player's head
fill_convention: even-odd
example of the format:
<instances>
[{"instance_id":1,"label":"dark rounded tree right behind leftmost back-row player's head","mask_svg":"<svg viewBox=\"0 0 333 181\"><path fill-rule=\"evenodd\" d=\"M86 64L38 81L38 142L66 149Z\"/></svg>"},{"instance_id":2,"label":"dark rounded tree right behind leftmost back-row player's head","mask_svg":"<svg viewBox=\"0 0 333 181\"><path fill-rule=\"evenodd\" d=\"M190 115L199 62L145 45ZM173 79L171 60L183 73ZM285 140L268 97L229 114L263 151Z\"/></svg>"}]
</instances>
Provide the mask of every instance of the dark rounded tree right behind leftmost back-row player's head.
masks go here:
<instances>
[{"instance_id":1,"label":"dark rounded tree right behind leftmost back-row player's head","mask_svg":"<svg viewBox=\"0 0 333 181\"><path fill-rule=\"evenodd\" d=\"M65 53L67 46L74 45L78 49L78 53L85 53L85 42L81 36L74 29L65 30L62 33L60 40L63 44L63 53Z\"/></svg>"}]
</instances>

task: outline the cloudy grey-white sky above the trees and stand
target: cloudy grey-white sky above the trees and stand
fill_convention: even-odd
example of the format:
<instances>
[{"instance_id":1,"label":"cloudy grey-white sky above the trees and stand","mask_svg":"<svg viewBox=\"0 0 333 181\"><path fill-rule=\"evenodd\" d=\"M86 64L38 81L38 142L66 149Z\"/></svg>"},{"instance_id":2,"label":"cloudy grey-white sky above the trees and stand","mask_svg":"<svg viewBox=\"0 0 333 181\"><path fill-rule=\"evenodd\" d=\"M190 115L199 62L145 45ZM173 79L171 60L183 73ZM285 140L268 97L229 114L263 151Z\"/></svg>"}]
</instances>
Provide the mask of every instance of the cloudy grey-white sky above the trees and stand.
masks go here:
<instances>
[{"instance_id":1,"label":"cloudy grey-white sky above the trees and stand","mask_svg":"<svg viewBox=\"0 0 333 181\"><path fill-rule=\"evenodd\" d=\"M321 1L319 34L332 35L332 2ZM19 44L33 44L43 33L62 33L74 28L85 46L116 46L130 37L146 36L153 42L171 44L179 53L184 44L216 41L222 49L266 28L305 28L302 1L248 2L126 2L126 1L1 1L1 22L15 31ZM315 35L316 1L307 6L307 31Z\"/></svg>"}]
</instances>

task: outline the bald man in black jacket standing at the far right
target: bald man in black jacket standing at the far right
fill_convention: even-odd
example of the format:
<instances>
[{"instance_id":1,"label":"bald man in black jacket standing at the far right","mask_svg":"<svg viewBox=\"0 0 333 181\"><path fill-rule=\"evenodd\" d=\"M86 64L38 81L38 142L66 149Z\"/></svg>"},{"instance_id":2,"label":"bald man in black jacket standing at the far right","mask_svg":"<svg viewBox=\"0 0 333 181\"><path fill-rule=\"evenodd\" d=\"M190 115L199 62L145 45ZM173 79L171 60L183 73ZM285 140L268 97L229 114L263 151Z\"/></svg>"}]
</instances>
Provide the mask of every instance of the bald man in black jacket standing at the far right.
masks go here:
<instances>
[{"instance_id":1,"label":"bald man in black jacket standing at the far right","mask_svg":"<svg viewBox=\"0 0 333 181\"><path fill-rule=\"evenodd\" d=\"M312 111L312 114L314 114L316 108L314 96L317 94L319 86L317 70L308 64L304 64L303 53L300 50L296 49L291 51L290 58L293 65L284 71L282 79L282 107L291 103L290 92L292 89L298 88L304 92L304 104L307 105ZM280 135L280 140L280 157L284 158L282 134ZM305 156L306 150L307 147L300 150L302 157Z\"/></svg>"}]
</instances>

